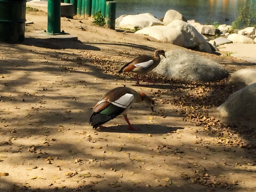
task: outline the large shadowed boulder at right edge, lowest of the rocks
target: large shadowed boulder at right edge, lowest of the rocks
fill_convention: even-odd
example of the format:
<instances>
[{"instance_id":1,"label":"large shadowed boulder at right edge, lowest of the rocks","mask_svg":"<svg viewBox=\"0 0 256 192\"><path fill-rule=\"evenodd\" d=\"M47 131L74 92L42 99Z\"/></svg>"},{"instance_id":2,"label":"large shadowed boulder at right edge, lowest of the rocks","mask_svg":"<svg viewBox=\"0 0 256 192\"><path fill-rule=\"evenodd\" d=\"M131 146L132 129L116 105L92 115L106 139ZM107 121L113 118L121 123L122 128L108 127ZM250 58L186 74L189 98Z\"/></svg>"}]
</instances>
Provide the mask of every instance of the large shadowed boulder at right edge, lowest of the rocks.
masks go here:
<instances>
[{"instance_id":1,"label":"large shadowed boulder at right edge, lowest of the rocks","mask_svg":"<svg viewBox=\"0 0 256 192\"><path fill-rule=\"evenodd\" d=\"M230 118L254 119L256 117L256 83L231 94L217 109L221 116Z\"/></svg>"}]
</instances>

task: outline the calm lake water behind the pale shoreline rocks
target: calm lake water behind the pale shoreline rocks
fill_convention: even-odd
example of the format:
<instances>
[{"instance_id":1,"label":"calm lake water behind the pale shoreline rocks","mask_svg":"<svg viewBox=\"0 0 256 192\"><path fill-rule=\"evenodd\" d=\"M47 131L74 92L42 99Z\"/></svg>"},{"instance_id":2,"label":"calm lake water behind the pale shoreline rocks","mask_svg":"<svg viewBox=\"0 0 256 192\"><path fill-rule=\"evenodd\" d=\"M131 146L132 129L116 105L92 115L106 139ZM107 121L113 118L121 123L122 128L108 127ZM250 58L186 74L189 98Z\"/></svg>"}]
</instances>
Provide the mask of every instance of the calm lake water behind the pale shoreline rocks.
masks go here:
<instances>
[{"instance_id":1,"label":"calm lake water behind the pale shoreline rocks","mask_svg":"<svg viewBox=\"0 0 256 192\"><path fill-rule=\"evenodd\" d=\"M208 24L218 21L230 25L236 19L239 7L248 0L115 0L116 18L122 14L151 13L162 18L166 11L180 12L187 20ZM253 0L256 2L255 0ZM226 18L228 20L226 20Z\"/></svg>"}]
</instances>

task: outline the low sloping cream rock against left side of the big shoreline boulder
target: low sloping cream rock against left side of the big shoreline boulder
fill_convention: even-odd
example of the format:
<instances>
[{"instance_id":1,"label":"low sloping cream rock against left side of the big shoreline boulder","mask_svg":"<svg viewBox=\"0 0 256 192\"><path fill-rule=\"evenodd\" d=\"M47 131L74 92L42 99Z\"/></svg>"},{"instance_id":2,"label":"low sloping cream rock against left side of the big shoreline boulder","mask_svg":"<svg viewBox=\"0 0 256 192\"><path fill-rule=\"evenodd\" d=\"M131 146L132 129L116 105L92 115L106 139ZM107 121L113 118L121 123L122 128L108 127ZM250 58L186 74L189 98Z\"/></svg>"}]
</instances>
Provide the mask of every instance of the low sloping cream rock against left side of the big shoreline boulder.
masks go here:
<instances>
[{"instance_id":1,"label":"low sloping cream rock against left side of the big shoreline boulder","mask_svg":"<svg viewBox=\"0 0 256 192\"><path fill-rule=\"evenodd\" d=\"M145 27L135 32L135 34L145 34L158 39L161 42L172 43L182 46L184 37L181 31L168 26Z\"/></svg>"}]
</instances>

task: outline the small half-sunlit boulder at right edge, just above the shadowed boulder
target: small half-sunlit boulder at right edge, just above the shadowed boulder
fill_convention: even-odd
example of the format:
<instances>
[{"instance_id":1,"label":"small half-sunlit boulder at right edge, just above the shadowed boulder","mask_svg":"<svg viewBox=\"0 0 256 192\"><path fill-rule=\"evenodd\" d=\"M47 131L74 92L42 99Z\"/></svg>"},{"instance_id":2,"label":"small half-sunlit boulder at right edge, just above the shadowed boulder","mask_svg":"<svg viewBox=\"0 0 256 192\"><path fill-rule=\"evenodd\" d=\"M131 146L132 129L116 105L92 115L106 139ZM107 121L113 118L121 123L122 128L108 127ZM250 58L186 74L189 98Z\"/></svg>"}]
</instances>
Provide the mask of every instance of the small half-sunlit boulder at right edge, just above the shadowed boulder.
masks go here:
<instances>
[{"instance_id":1,"label":"small half-sunlit boulder at right edge, just above the shadowed boulder","mask_svg":"<svg viewBox=\"0 0 256 192\"><path fill-rule=\"evenodd\" d=\"M256 69L240 69L228 78L228 83L238 83L240 87L256 83Z\"/></svg>"}]
</instances>

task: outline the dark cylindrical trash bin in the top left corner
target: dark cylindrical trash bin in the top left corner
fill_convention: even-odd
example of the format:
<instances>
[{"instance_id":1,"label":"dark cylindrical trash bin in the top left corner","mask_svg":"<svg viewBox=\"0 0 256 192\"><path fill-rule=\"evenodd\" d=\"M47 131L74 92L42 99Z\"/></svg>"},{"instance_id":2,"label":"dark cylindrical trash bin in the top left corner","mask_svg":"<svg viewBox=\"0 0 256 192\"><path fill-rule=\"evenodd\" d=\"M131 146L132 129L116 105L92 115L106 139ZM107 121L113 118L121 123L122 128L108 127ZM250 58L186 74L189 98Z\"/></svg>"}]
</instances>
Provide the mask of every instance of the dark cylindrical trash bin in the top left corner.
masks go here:
<instances>
[{"instance_id":1,"label":"dark cylindrical trash bin in the top left corner","mask_svg":"<svg viewBox=\"0 0 256 192\"><path fill-rule=\"evenodd\" d=\"M0 42L22 42L25 22L26 0L0 0Z\"/></svg>"}]
</instances>

